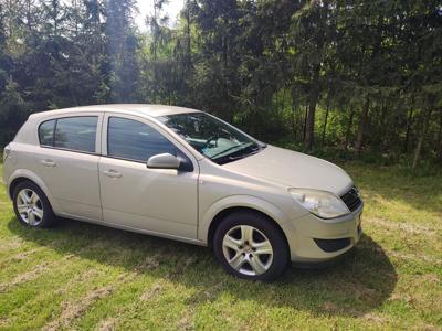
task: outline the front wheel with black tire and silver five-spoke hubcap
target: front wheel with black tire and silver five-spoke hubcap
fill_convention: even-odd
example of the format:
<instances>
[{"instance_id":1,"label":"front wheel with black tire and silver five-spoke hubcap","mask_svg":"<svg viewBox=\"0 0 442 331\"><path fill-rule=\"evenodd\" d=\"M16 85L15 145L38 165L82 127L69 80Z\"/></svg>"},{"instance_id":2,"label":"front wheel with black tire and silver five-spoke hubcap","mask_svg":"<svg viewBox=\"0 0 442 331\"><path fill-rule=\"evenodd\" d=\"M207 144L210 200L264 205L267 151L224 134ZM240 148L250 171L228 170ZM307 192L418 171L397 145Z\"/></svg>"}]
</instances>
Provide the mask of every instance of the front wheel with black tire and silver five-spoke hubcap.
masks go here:
<instances>
[{"instance_id":1,"label":"front wheel with black tire and silver five-spoke hubcap","mask_svg":"<svg viewBox=\"0 0 442 331\"><path fill-rule=\"evenodd\" d=\"M225 216L214 233L213 250L225 271L244 279L274 280L290 263L282 231L253 211Z\"/></svg>"}]
</instances>

